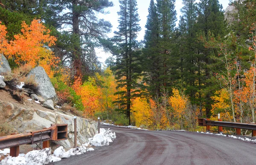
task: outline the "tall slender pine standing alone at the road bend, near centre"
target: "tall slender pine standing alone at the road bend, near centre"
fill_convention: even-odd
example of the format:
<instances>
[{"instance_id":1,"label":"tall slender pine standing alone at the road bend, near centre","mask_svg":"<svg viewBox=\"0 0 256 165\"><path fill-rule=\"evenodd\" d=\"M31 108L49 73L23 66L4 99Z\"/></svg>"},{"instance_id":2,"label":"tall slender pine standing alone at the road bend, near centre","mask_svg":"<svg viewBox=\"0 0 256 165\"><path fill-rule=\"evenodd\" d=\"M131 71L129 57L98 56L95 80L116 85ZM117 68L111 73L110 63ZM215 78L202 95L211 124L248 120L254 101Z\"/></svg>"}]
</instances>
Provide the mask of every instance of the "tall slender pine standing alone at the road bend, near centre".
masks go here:
<instances>
[{"instance_id":1,"label":"tall slender pine standing alone at the road bend, near centre","mask_svg":"<svg viewBox=\"0 0 256 165\"><path fill-rule=\"evenodd\" d=\"M120 11L118 32L115 33L114 41L121 50L119 55L116 55L116 65L113 68L116 70L116 78L120 96L119 100L115 101L120 104L120 111L126 113L131 124L131 98L136 96L136 79L140 75L140 69L137 64L138 43L136 41L137 33L141 30L139 26L139 14L137 13L136 0L119 0Z\"/></svg>"}]
</instances>

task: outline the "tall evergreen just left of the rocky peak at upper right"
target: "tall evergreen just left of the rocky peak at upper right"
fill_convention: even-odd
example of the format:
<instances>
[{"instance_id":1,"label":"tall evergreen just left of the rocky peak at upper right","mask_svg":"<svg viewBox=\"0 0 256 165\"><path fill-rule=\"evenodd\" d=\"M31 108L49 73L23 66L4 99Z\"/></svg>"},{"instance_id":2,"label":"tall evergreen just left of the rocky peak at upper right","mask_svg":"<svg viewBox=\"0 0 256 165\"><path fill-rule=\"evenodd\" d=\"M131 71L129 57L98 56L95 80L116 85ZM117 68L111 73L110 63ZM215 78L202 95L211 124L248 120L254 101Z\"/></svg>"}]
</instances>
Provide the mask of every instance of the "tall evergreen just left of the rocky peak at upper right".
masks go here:
<instances>
[{"instance_id":1,"label":"tall evergreen just left of the rocky peak at upper right","mask_svg":"<svg viewBox=\"0 0 256 165\"><path fill-rule=\"evenodd\" d=\"M218 0L201 0L198 3L198 19L195 24L197 38L205 36L206 41L210 41L210 35L216 38L224 38L227 35L227 23L224 21L224 11ZM200 41L199 41L200 42ZM211 56L218 56L215 49L206 48L204 43L196 45L197 66L200 68L198 77L200 78L200 90L204 95L204 107L206 116L210 117L212 99L211 96L215 93L216 87L212 81L212 72L215 72L214 63ZM202 78L202 79L201 79Z\"/></svg>"}]
</instances>

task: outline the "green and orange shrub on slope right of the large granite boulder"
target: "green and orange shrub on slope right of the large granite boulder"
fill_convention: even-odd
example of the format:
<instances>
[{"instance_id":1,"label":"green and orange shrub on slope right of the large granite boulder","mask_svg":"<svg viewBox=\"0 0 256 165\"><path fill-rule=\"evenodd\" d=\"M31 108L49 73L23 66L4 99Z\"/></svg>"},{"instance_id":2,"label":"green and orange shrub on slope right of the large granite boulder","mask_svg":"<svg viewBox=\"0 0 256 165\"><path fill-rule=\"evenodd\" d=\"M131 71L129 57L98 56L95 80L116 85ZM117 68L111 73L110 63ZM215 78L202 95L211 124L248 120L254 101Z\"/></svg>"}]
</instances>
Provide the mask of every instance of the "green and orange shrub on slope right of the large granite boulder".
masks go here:
<instances>
[{"instance_id":1,"label":"green and orange shrub on slope right of the large granite boulder","mask_svg":"<svg viewBox=\"0 0 256 165\"><path fill-rule=\"evenodd\" d=\"M81 96L78 96L71 87L67 86L58 77L51 79L52 85L55 87L58 98L60 98L60 105L65 102L72 104L77 110L84 110L84 106L81 101Z\"/></svg>"}]
</instances>

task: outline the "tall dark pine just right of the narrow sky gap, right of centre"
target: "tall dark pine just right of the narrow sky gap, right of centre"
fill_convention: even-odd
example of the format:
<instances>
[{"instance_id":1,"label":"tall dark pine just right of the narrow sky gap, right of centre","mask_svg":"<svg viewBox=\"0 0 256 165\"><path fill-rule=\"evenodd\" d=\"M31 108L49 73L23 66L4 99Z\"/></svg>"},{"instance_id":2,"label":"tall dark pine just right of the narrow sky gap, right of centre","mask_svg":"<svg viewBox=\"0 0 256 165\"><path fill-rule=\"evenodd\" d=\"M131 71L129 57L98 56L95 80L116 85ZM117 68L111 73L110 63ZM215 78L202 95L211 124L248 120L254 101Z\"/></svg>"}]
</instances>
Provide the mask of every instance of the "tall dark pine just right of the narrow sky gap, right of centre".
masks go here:
<instances>
[{"instance_id":1,"label":"tall dark pine just right of the narrow sky gap, right of centre","mask_svg":"<svg viewBox=\"0 0 256 165\"><path fill-rule=\"evenodd\" d=\"M200 104L200 93L198 98L195 97L201 85L201 78L198 76L201 68L197 66L198 60L195 53L197 19L195 0L183 0L183 5L180 9L183 15L180 17L178 27L180 38L177 42L180 53L181 89L186 89L185 92L193 103Z\"/></svg>"}]
</instances>

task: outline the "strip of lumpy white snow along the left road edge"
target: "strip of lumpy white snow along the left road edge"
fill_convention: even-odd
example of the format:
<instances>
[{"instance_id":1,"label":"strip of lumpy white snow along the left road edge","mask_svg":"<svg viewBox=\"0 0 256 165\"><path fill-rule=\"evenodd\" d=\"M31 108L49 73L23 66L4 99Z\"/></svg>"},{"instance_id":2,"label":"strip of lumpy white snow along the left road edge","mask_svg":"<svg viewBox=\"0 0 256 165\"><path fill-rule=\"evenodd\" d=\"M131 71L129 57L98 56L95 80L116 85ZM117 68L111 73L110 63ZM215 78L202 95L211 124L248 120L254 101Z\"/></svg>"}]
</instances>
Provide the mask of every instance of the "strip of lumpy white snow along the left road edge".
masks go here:
<instances>
[{"instance_id":1,"label":"strip of lumpy white snow along the left road edge","mask_svg":"<svg viewBox=\"0 0 256 165\"><path fill-rule=\"evenodd\" d=\"M44 148L43 150L30 151L26 154L19 154L17 157L9 156L10 149L0 150L0 156L6 155L7 157L0 162L0 165L45 165L50 162L57 162L63 158L68 158L73 155L84 154L88 151L94 151L90 145L93 146L105 146L109 145L116 139L116 133L112 132L109 128L105 130L100 129L100 133L89 139L89 142L71 148L69 151L65 151L63 146L57 148L53 154L51 154L51 148Z\"/></svg>"}]
</instances>

